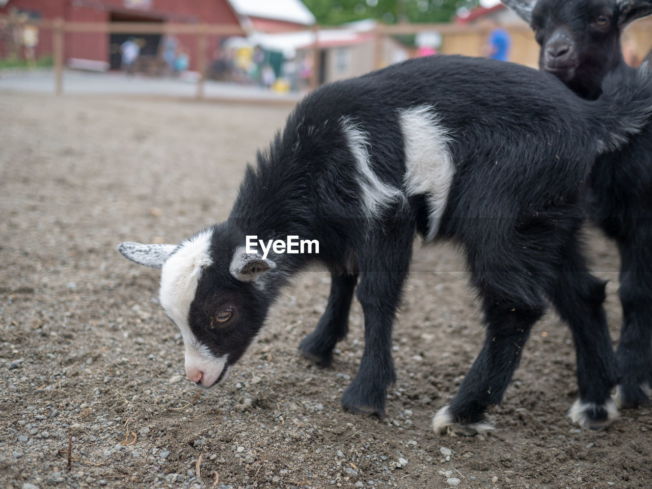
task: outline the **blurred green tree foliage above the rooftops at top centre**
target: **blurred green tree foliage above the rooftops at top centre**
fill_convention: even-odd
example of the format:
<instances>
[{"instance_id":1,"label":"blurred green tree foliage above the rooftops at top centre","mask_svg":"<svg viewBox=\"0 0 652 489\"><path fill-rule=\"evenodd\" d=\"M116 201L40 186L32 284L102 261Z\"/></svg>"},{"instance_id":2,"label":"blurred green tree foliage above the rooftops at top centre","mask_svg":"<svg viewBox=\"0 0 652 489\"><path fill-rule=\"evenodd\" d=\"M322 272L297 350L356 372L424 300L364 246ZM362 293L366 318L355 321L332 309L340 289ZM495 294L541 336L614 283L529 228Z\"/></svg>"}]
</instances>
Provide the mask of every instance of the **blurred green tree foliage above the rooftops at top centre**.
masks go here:
<instances>
[{"instance_id":1,"label":"blurred green tree foliage above the rooftops at top centre","mask_svg":"<svg viewBox=\"0 0 652 489\"><path fill-rule=\"evenodd\" d=\"M385 23L447 22L460 8L473 8L478 0L303 0L321 25L363 19Z\"/></svg>"}]
</instances>

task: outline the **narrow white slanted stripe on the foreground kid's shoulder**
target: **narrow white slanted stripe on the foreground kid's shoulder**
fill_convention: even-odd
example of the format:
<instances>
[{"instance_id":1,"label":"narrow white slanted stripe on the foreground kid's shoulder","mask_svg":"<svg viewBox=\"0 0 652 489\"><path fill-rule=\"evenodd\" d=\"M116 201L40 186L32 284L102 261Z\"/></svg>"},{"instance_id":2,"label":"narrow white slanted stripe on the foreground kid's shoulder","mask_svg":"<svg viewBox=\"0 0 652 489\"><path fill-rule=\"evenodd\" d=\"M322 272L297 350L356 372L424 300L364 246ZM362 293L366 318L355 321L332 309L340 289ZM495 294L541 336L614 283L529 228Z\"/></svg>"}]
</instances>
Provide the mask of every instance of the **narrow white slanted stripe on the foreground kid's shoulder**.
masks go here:
<instances>
[{"instance_id":1,"label":"narrow white slanted stripe on the foreground kid's shoulder","mask_svg":"<svg viewBox=\"0 0 652 489\"><path fill-rule=\"evenodd\" d=\"M366 213L370 217L379 217L381 212L392 203L404 200L405 195L400 189L383 182L374 173L369 156L370 143L367 133L349 117L342 117L342 131L357 164Z\"/></svg>"}]
</instances>

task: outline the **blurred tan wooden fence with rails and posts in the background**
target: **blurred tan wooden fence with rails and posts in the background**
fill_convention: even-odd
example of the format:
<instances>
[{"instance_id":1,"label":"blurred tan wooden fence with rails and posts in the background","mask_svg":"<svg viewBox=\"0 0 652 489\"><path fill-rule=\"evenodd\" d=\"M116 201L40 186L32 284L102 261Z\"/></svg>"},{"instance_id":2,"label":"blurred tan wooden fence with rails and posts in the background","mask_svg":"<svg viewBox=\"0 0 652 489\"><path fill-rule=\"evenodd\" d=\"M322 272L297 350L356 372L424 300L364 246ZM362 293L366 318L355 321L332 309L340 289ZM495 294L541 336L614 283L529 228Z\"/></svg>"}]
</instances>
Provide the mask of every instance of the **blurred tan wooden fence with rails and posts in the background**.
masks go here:
<instances>
[{"instance_id":1,"label":"blurred tan wooden fence with rails and posts in the background","mask_svg":"<svg viewBox=\"0 0 652 489\"><path fill-rule=\"evenodd\" d=\"M0 15L0 20L12 21L10 16ZM63 19L55 20L26 20L23 25L34 25L39 29L52 31L52 55L55 76L55 93L63 92L63 68L65 33L91 33L91 34L160 34L160 35L194 35L197 42L198 53L198 81L196 98L204 98L204 81L207 68L207 38L208 36L238 36L243 35L239 25L207 24L207 23L151 23L151 22L70 22ZM505 27L512 35L511 61L536 67L539 56L539 46L534 36L525 24L509 25ZM312 79L310 87L318 85L319 73L319 32L322 29L332 30L333 27L313 27L315 42L312 46ZM482 25L458 25L453 23L427 23L427 24L378 24L372 31L374 35L374 66L381 68L385 61L381 46L386 36L417 35L423 32L436 32L441 35L442 43L439 52L442 54L463 54L479 56L482 46L486 42L489 29ZM644 19L630 25L627 35L634 40L638 55L643 59L652 48L652 20Z\"/></svg>"}]
</instances>

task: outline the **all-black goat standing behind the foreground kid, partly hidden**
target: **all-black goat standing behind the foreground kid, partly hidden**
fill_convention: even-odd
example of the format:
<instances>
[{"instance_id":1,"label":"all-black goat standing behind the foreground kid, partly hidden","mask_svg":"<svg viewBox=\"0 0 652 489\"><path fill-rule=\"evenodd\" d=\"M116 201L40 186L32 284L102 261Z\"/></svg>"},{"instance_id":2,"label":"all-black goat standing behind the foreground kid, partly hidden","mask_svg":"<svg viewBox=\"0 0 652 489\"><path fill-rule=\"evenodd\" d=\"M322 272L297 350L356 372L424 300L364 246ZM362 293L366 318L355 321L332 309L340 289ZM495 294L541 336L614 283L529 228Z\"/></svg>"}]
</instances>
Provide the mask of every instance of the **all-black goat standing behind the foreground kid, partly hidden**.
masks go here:
<instances>
[{"instance_id":1,"label":"all-black goat standing behind the foreground kid, partly hidden","mask_svg":"<svg viewBox=\"0 0 652 489\"><path fill-rule=\"evenodd\" d=\"M503 0L534 29L539 64L580 96L593 99L610 72L627 83L621 30L652 14L652 1ZM647 67L644 69L648 69ZM650 75L652 76L652 74ZM650 403L652 385L652 123L620 150L600 156L591 173L593 221L618 245L623 324L616 356L623 407Z\"/></svg>"}]
</instances>

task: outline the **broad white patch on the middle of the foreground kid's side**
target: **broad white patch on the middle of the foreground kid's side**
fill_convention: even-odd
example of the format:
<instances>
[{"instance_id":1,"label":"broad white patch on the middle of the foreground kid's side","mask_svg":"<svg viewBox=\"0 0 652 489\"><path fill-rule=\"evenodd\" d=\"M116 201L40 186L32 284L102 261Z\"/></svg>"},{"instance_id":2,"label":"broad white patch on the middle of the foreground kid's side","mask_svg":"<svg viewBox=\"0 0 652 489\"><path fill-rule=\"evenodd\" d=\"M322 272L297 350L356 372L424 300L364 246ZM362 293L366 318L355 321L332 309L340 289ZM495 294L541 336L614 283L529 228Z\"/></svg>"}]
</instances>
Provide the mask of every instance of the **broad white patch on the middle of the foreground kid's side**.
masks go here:
<instances>
[{"instance_id":1,"label":"broad white patch on the middle of the foreground kid's side","mask_svg":"<svg viewBox=\"0 0 652 489\"><path fill-rule=\"evenodd\" d=\"M404 109L398 120L406 158L404 189L408 195L426 195L426 239L432 240L439 230L455 175L449 150L451 137L430 105Z\"/></svg>"}]
</instances>

